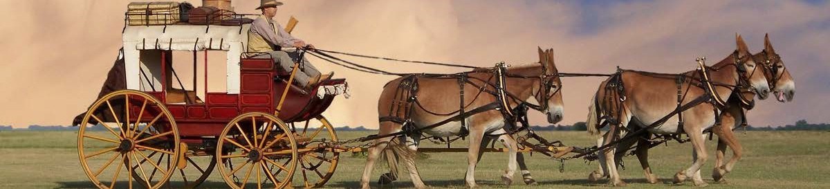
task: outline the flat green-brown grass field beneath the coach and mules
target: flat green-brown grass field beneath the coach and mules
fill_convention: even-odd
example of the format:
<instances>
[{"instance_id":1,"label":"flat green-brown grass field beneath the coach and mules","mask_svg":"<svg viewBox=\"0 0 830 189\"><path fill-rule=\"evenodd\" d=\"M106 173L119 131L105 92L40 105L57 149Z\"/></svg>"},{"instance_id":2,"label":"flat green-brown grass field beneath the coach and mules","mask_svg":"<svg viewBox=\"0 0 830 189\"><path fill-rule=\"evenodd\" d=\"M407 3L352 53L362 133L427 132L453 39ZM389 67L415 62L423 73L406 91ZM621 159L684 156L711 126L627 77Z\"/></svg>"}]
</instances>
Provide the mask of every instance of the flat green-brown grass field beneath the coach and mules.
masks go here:
<instances>
[{"instance_id":1,"label":"flat green-brown grass field beneath the coach and mules","mask_svg":"<svg viewBox=\"0 0 830 189\"><path fill-rule=\"evenodd\" d=\"M340 132L339 138L359 138L369 132ZM540 132L546 138L556 138L574 146L590 146L592 138L584 132ZM726 176L727 183L712 183L710 173L714 164L715 141L707 142L710 159L702 169L708 188L830 188L830 133L828 132L746 132L738 133L744 144L744 158L735 170ZM81 170L76 153L76 132L0 132L0 188L90 188L94 187ZM426 142L425 146L438 147ZM454 147L466 146L460 141ZM437 188L464 187L466 153L428 153L418 159L418 169L427 185ZM500 174L506 169L505 153L488 153L476 169L477 183L485 188L504 188ZM667 147L653 148L652 169L662 183L647 184L639 163L634 157L625 159L627 169L623 180L629 188L675 187L671 177L691 163L691 145L669 143ZM327 187L359 187L365 159L341 154L340 164ZM559 162L540 154L528 159L538 186L525 186L520 174L512 188L597 188L605 182L588 182L588 172L597 164L570 160L559 172ZM373 187L383 170L375 170ZM404 176L384 188L412 187ZM679 187L691 187L686 182ZM202 185L203 188L227 188L217 172Z\"/></svg>"}]
</instances>

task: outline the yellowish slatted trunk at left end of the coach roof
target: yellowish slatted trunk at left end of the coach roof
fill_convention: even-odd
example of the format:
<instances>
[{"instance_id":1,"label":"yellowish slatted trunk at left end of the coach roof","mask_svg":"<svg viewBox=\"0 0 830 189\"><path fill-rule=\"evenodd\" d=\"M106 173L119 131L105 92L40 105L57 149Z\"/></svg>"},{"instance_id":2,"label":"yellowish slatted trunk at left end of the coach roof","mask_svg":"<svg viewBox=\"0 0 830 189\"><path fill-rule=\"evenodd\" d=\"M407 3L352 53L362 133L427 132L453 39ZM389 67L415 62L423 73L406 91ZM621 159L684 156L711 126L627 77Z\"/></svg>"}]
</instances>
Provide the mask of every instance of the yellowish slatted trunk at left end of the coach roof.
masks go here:
<instances>
[{"instance_id":1,"label":"yellowish slatted trunk at left end of the coach roof","mask_svg":"<svg viewBox=\"0 0 830 189\"><path fill-rule=\"evenodd\" d=\"M169 25L179 22L178 2L129 2L129 26Z\"/></svg>"}]
</instances>

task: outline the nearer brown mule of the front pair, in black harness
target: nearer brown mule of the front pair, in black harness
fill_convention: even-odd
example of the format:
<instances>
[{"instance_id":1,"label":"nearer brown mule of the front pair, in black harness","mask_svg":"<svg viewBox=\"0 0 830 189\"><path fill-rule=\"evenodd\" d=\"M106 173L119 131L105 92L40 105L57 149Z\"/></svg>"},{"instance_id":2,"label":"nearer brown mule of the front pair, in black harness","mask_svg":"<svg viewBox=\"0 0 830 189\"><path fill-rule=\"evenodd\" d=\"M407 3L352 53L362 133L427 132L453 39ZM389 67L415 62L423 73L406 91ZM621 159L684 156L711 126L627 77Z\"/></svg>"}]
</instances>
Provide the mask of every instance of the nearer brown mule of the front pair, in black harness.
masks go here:
<instances>
[{"instance_id":1,"label":"nearer brown mule of the front pair, in black harness","mask_svg":"<svg viewBox=\"0 0 830 189\"><path fill-rule=\"evenodd\" d=\"M769 93L769 85L764 77L763 68L759 69L758 66L761 65L756 64L750 57L752 55L747 50L743 38L736 36L736 41L738 49L735 53L732 53L723 61L710 66L710 69L708 69L710 70L710 75L708 76L709 80L715 84L713 87L715 91L712 95L715 96L715 101L724 102L726 99L718 99L718 97L730 96L730 94L738 90L738 87L736 86L741 83L745 83L745 85L751 86L750 88L754 89L754 92L759 94L761 99L765 99ZM683 83L688 85L681 85L680 90L684 91L684 96L691 97L683 98L681 100L681 104L688 104L695 99L695 97L707 94L704 87L691 86L691 84L688 83L696 82L690 80L690 78L701 78L701 75L696 73L696 71L686 72L684 74L686 76L681 77L685 78L682 79ZM609 86L608 84L612 82L612 80L622 81L621 84L623 87L617 88L615 86L613 89L608 88L607 86ZM592 134L599 133L598 119L600 117L598 116L612 116L612 119L614 119L609 133L625 133L625 128L627 128L627 130L634 131L637 130L637 125L651 125L656 123L658 119L662 119L663 116L670 114L678 107L676 99L678 94L677 80L680 80L677 75L662 75L642 71L624 70L616 79L612 77L609 78L609 80L603 81L603 84L600 85L597 95L594 96L592 105L589 108L588 132ZM706 85L701 82L696 83L698 83L698 85ZM619 92L607 91L618 89ZM611 101L614 101L614 103L618 103L619 105L616 107L609 106L609 103L601 101L603 99L612 99ZM697 175L699 175L697 172L700 172L700 169L703 163L706 162L707 158L702 132L715 124L715 108L715 104L697 104L692 106L690 109L682 111L680 114L671 116L657 127L648 128L648 132L650 133L686 133L691 139L691 143L694 148L694 163L691 167L688 167L681 172L677 172L675 175L675 182L683 182L687 177L693 177L696 186L706 186L706 182L703 182L701 177L697 177ZM606 112L618 114L605 114ZM679 116L682 117L682 125L680 123ZM629 124L631 125L629 126ZM613 143L616 138L618 138L617 134L606 134L605 137L598 140L598 144L602 146L604 144ZM618 145L624 146L626 145L624 143L632 142L632 140L626 140ZM613 161L604 161L606 159L616 159L615 151L616 148L613 147L600 151L603 153L599 156L601 160L600 166L603 167L604 172L608 173L611 185L623 186L625 185L625 182L623 182L623 180L619 177L616 164L612 164L614 163ZM637 153L643 152L637 151ZM647 156L647 154L642 155L644 157ZM647 168L647 166L644 165L644 167L646 167L647 172L650 172L650 169ZM597 172L593 172L591 176L595 178L596 174Z\"/></svg>"}]
</instances>

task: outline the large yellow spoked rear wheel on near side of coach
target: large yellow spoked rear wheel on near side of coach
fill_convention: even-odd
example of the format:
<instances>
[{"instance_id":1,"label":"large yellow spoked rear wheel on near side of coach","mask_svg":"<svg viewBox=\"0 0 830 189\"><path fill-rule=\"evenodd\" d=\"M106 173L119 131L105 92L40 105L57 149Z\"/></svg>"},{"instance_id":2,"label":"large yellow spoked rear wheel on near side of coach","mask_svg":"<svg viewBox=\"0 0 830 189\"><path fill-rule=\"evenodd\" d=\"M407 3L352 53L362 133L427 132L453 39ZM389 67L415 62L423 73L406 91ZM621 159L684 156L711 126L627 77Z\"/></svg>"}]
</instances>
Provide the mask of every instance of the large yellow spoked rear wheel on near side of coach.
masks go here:
<instances>
[{"instance_id":1,"label":"large yellow spoked rear wheel on near side of coach","mask_svg":"<svg viewBox=\"0 0 830 189\"><path fill-rule=\"evenodd\" d=\"M137 90L110 93L92 104L81 123L78 156L95 187L159 188L176 171L178 128L153 96ZM172 155L169 164L154 158L161 154Z\"/></svg>"}]
</instances>

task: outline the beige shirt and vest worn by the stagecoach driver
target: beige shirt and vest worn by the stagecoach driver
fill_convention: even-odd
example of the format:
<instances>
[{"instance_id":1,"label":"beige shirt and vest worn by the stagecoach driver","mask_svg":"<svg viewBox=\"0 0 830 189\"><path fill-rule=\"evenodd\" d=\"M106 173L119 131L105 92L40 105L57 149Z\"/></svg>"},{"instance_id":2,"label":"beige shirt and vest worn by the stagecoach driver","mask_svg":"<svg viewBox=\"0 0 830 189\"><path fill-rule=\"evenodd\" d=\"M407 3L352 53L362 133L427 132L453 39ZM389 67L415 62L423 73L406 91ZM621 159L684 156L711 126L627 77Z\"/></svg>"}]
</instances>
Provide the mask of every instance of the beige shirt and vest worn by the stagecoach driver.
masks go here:
<instances>
[{"instance_id":1,"label":"beige shirt and vest worn by the stagecoach driver","mask_svg":"<svg viewBox=\"0 0 830 189\"><path fill-rule=\"evenodd\" d=\"M271 46L291 47L297 41L302 40L283 30L280 23L262 15L251 23L248 30L248 51L252 52L276 51Z\"/></svg>"}]
</instances>

